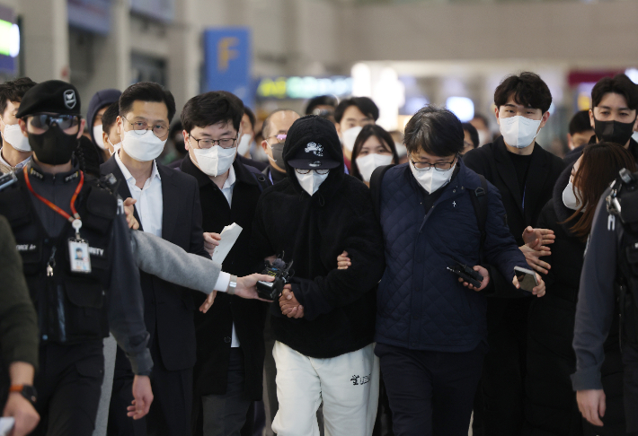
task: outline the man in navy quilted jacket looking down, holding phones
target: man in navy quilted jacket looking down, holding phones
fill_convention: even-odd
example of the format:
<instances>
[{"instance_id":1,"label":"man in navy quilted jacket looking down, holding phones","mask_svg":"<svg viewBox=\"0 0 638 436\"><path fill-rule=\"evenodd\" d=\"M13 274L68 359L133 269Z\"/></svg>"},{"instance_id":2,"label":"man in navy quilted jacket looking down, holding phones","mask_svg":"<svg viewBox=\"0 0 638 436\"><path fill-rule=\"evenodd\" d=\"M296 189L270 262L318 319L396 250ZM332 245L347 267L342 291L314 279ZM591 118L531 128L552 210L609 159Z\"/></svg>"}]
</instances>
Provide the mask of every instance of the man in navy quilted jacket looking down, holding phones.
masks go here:
<instances>
[{"instance_id":1,"label":"man in navy quilted jacket looking down, holding phones","mask_svg":"<svg viewBox=\"0 0 638 436\"><path fill-rule=\"evenodd\" d=\"M464 132L452 112L419 110L405 146L409 163L381 167L370 182L385 243L375 353L396 436L465 436L487 352L485 295L495 293L482 258L516 287L515 267L527 262L498 190L459 158ZM475 285L459 283L450 271L459 264L480 274ZM545 283L529 276L537 284L527 294L543 296Z\"/></svg>"}]
</instances>

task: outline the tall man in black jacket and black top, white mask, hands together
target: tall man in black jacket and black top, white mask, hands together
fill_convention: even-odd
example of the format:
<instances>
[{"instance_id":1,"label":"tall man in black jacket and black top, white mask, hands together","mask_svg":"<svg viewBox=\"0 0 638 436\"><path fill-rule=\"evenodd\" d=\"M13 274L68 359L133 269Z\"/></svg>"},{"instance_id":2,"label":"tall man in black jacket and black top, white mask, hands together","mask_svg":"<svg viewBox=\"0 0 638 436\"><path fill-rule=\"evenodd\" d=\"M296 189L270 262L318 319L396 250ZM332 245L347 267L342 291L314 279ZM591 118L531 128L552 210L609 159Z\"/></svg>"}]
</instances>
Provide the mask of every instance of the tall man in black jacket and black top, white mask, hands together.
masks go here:
<instances>
[{"instance_id":1,"label":"tall man in black jacket and black top, white mask, hands together","mask_svg":"<svg viewBox=\"0 0 638 436\"><path fill-rule=\"evenodd\" d=\"M540 273L550 266L554 232L534 229L563 161L536 144L536 136L550 116L552 93L538 74L506 77L494 91L494 116L502 136L465 154L465 165L499 189L510 232L527 263ZM491 270L492 273L492 270ZM510 279L492 274L497 290L511 287ZM518 434L523 425L524 379L527 350L527 311L531 299L492 298L487 323L490 350L485 356L481 393L484 398L484 434ZM476 411L481 414L482 411Z\"/></svg>"}]
</instances>

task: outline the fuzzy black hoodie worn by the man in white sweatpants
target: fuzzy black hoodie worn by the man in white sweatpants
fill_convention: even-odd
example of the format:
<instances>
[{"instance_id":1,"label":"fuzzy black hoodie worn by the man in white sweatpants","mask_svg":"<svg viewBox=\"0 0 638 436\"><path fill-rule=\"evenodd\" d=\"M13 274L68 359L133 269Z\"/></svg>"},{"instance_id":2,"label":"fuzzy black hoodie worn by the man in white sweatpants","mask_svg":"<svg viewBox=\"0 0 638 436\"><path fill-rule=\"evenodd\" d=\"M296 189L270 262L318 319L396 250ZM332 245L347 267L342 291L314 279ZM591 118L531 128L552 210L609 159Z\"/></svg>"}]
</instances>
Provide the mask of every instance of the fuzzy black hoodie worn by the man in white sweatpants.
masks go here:
<instances>
[{"instance_id":1,"label":"fuzzy black hoodie worn by the man in white sweatpants","mask_svg":"<svg viewBox=\"0 0 638 436\"><path fill-rule=\"evenodd\" d=\"M324 144L325 145L325 144ZM326 148L343 160L341 148ZM284 147L284 160L297 153ZM329 358L371 344L374 338L377 283L385 268L382 235L368 187L331 170L314 196L299 186L295 170L261 195L253 222L253 254L285 253L294 260L292 290L304 306L304 318L281 314L271 304L273 336L309 357ZM352 266L337 269L348 251Z\"/></svg>"}]
</instances>

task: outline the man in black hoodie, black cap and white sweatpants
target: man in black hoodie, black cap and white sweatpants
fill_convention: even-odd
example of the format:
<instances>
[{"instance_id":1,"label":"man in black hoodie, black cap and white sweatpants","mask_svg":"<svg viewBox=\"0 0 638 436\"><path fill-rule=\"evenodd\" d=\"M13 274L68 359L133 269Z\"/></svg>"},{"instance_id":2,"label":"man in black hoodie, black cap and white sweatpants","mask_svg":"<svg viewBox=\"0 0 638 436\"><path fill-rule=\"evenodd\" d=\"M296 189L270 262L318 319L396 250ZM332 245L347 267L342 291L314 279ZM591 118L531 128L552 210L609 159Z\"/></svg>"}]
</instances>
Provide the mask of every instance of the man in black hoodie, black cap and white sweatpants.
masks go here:
<instances>
[{"instance_id":1,"label":"man in black hoodie, black cap and white sweatpants","mask_svg":"<svg viewBox=\"0 0 638 436\"><path fill-rule=\"evenodd\" d=\"M295 275L270 306L277 340L279 436L369 435L378 397L373 353L377 283L385 268L369 190L347 177L332 123L299 118L283 150L288 179L261 195L253 222L256 258L285 253ZM346 249L353 262L337 269ZM350 251L352 250L352 251Z\"/></svg>"}]
</instances>

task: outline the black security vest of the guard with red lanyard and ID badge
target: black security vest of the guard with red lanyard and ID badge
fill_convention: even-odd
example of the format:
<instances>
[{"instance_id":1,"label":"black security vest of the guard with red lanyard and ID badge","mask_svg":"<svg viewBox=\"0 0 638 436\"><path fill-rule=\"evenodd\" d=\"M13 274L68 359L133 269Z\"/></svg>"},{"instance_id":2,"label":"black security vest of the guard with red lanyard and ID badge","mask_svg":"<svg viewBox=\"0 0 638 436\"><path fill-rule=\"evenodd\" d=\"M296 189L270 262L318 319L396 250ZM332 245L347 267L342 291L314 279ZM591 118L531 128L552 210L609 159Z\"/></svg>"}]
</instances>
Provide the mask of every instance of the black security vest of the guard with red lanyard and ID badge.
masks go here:
<instances>
[{"instance_id":1,"label":"black security vest of the guard with red lanyard and ID badge","mask_svg":"<svg viewBox=\"0 0 638 436\"><path fill-rule=\"evenodd\" d=\"M0 191L0 214L10 222L22 255L24 276L38 312L40 344L81 344L108 336L106 290L116 196L97 179L85 177L75 208L82 220L81 236L88 241L92 271L74 273L68 253L68 240L75 237L71 223L51 237L33 206L22 171L16 176L13 185ZM52 266L49 273L48 266Z\"/></svg>"}]
</instances>

